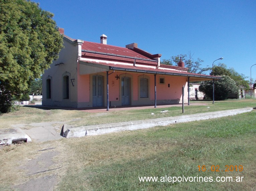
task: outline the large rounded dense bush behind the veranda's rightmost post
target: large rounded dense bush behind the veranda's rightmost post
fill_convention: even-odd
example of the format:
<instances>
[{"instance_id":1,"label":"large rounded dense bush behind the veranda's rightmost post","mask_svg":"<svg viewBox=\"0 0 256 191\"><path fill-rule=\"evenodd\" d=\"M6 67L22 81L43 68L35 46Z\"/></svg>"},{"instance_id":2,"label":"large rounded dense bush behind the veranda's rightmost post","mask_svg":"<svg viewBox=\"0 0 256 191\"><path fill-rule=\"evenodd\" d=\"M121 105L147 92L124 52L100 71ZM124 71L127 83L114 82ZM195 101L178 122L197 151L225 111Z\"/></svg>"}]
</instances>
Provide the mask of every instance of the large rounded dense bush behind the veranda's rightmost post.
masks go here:
<instances>
[{"instance_id":1,"label":"large rounded dense bush behind the veranda's rightmost post","mask_svg":"<svg viewBox=\"0 0 256 191\"><path fill-rule=\"evenodd\" d=\"M199 91L207 97L213 98L213 81L203 81L199 86ZM238 95L238 87L229 76L222 76L221 80L214 81L214 98L216 100L227 99L230 94Z\"/></svg>"}]
</instances>

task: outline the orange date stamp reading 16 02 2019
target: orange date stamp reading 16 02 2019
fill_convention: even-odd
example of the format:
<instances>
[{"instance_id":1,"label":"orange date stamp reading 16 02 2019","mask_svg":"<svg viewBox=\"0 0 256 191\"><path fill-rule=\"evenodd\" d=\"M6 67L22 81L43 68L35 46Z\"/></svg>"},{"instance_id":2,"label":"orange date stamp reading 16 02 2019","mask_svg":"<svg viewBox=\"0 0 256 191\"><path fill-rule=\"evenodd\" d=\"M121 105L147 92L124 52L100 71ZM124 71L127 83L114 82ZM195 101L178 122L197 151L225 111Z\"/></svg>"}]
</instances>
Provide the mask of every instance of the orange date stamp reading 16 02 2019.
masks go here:
<instances>
[{"instance_id":1,"label":"orange date stamp reading 16 02 2019","mask_svg":"<svg viewBox=\"0 0 256 191\"><path fill-rule=\"evenodd\" d=\"M198 170L200 171L212 171L212 172L242 172L243 171L243 165L225 165L225 168L220 169L220 165L198 165Z\"/></svg>"}]
</instances>

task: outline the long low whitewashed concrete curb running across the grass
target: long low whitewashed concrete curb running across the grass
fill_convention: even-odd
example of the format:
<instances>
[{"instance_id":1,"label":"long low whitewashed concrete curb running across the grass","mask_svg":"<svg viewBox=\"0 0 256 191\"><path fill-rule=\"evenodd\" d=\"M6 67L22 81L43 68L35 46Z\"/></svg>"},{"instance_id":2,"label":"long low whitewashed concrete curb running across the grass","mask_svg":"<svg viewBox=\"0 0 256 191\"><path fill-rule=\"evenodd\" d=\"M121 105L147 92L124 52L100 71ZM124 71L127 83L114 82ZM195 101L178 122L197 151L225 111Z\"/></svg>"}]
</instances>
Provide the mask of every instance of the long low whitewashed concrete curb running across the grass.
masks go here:
<instances>
[{"instance_id":1,"label":"long low whitewashed concrete curb running across the grass","mask_svg":"<svg viewBox=\"0 0 256 191\"><path fill-rule=\"evenodd\" d=\"M250 112L252 110L253 110L252 107L245 107L240 109L230 109L230 110L182 115L182 116L175 116L175 117L165 117L165 118L138 120L138 121L72 127L64 131L62 136L66 138L83 137L87 135L99 135L99 134L105 134L105 133L111 133L111 132L117 132L117 131L144 129L144 128L150 128L155 126L170 125L173 123L183 123L183 122L189 122L189 121L198 121L198 120L213 119L218 117L225 117L225 116Z\"/></svg>"}]
</instances>

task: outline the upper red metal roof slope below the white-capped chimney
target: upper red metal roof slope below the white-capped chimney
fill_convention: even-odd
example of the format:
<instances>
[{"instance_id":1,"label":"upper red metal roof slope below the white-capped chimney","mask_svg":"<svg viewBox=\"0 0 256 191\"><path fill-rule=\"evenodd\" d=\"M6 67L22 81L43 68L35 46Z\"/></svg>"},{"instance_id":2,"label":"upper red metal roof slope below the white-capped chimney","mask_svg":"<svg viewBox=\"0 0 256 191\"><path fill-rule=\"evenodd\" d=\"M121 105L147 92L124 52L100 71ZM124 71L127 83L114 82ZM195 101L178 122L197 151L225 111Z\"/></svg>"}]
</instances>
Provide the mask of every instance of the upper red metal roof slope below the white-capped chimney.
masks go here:
<instances>
[{"instance_id":1,"label":"upper red metal roof slope below the white-capped chimney","mask_svg":"<svg viewBox=\"0 0 256 191\"><path fill-rule=\"evenodd\" d=\"M113 45L105 45L101 43L94 43L94 42L88 42L88 41L84 41L82 45L82 50L96 51L96 52L116 54L116 55L122 55L122 56L130 56L130 57L136 57L136 58L151 59L149 57L136 53L135 51L130 50L128 48L123 48L123 47L118 47Z\"/></svg>"}]
</instances>

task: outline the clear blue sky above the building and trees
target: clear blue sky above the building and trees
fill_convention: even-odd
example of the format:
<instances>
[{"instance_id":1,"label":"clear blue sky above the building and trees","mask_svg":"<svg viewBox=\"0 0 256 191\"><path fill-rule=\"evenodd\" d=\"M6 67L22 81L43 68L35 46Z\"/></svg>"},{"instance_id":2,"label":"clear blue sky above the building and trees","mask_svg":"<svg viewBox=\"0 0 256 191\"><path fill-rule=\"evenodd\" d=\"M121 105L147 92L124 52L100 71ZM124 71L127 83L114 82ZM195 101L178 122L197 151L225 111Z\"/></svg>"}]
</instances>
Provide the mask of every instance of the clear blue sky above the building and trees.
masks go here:
<instances>
[{"instance_id":1,"label":"clear blue sky above the building and trees","mask_svg":"<svg viewBox=\"0 0 256 191\"><path fill-rule=\"evenodd\" d=\"M224 63L250 79L256 64L256 1L34 0L74 39L138 47L169 59L194 53L202 67ZM220 61L220 62L219 62ZM256 80L256 65L252 78ZM207 73L209 74L209 73Z\"/></svg>"}]
</instances>

